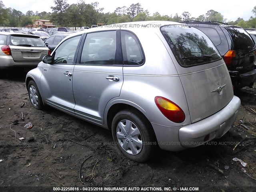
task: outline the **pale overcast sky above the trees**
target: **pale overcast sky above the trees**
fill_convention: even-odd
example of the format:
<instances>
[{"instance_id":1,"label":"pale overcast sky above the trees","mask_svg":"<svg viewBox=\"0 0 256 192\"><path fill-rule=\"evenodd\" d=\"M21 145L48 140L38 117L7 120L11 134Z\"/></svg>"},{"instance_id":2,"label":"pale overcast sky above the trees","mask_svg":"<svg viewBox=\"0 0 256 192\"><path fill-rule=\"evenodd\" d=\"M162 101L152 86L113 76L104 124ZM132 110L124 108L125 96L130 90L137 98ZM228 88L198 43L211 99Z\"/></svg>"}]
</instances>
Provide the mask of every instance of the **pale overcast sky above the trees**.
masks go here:
<instances>
[{"instance_id":1,"label":"pale overcast sky above the trees","mask_svg":"<svg viewBox=\"0 0 256 192\"><path fill-rule=\"evenodd\" d=\"M187 11L191 17L197 18L202 14L206 14L208 10L220 12L227 21L235 21L238 17L248 20L254 16L252 9L256 3L252 0L228 1L228 0L84 0L87 4L91 2L99 2L99 7L104 8L103 12L114 12L118 7L129 7L131 4L140 3L144 10L148 10L152 15L154 12L159 12L161 15L172 15L176 13L181 15ZM6 8L13 8L26 14L28 10L33 12L52 12L50 6L54 6L54 0L2 0ZM77 3L78 0L68 0L68 4ZM253 3L254 2L254 3Z\"/></svg>"}]
</instances>

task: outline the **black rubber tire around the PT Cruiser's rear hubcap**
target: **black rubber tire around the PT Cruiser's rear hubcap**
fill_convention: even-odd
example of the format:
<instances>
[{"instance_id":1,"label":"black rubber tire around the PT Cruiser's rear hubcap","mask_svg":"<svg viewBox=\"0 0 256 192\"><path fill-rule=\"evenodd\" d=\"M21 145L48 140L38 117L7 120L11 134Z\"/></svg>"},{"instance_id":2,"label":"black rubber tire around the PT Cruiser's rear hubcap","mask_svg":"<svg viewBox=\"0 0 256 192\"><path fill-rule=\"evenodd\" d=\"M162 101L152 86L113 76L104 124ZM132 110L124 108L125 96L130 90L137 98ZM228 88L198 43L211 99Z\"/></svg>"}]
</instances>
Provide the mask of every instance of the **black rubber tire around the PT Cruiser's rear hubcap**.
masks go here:
<instances>
[{"instance_id":1,"label":"black rubber tire around the PT Cruiser's rear hubcap","mask_svg":"<svg viewBox=\"0 0 256 192\"><path fill-rule=\"evenodd\" d=\"M135 127L135 129L138 128L138 130L140 131L138 139L141 140L142 147L139 148L136 146L136 152L139 151L137 154L136 153L131 154L133 153L131 148L128 148L128 150L125 150L122 147L124 146L124 142L125 142L125 141L123 142L123 140L126 140L126 139L128 140L128 142L126 140L126 142L128 143L127 145L129 145L129 141L130 141L130 145L136 144L134 140L132 141L133 138L130 137L129 133L127 134L127 136L125 135L124 136L125 138L123 139L117 138L118 129L120 130L119 128L120 126L118 127L118 123L121 123L121 124L123 123L126 125L126 122L128 123L132 122L133 124L132 127L133 128ZM123 132L122 133L119 132L119 133L120 135L122 135ZM124 154L124 156L126 156L127 158L135 162L144 162L146 160L149 160L150 158L152 158L152 156L154 156L154 154L156 154L158 149L156 136L154 134L154 130L150 122L148 122L148 120L146 120L146 118L136 110L122 110L114 116L114 119L112 121L112 136L119 150L122 152L122 154ZM135 136L134 136L134 139L135 139Z\"/></svg>"}]
</instances>

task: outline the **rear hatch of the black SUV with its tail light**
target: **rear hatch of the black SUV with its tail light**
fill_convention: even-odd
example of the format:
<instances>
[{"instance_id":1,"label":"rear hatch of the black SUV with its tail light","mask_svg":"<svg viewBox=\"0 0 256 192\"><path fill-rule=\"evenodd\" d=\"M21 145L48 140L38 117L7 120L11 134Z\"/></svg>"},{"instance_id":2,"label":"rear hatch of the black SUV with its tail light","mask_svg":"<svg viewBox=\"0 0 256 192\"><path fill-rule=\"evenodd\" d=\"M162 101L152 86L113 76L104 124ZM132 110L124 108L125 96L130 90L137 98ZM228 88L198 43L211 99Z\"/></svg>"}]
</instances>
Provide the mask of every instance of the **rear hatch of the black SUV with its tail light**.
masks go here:
<instances>
[{"instance_id":1,"label":"rear hatch of the black SUV with its tail light","mask_svg":"<svg viewBox=\"0 0 256 192\"><path fill-rule=\"evenodd\" d=\"M225 29L232 39L229 52L234 51L232 55L226 53L224 56L228 69L236 70L240 73L253 70L256 57L255 44L251 36L242 28L226 27Z\"/></svg>"}]
</instances>

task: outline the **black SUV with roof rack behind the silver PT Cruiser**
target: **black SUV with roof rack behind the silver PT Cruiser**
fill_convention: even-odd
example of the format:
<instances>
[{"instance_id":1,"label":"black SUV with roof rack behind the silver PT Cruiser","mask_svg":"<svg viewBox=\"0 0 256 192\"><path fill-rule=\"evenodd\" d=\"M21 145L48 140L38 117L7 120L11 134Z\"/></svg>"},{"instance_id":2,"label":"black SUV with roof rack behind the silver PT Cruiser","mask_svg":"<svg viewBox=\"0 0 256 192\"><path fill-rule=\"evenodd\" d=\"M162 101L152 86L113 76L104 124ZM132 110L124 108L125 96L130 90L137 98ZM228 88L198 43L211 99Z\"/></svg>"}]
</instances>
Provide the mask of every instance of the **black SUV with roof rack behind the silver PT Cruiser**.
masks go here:
<instances>
[{"instance_id":1,"label":"black SUV with roof rack behind the silver PT Cruiser","mask_svg":"<svg viewBox=\"0 0 256 192\"><path fill-rule=\"evenodd\" d=\"M234 88L252 88L256 80L256 46L244 29L222 22L183 22L195 27L214 43L228 68Z\"/></svg>"}]
</instances>

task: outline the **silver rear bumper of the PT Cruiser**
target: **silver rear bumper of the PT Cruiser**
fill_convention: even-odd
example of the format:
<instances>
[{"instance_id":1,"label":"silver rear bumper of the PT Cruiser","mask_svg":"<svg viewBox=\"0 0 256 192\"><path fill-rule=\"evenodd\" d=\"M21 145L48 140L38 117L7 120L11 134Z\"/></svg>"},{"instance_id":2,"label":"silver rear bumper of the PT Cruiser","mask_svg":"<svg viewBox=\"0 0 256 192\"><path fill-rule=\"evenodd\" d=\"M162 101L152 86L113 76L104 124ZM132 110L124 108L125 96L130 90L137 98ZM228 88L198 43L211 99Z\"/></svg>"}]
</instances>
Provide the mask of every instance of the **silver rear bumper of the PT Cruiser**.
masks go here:
<instances>
[{"instance_id":1,"label":"silver rear bumper of the PT Cruiser","mask_svg":"<svg viewBox=\"0 0 256 192\"><path fill-rule=\"evenodd\" d=\"M169 127L152 123L159 147L164 150L178 151L204 144L209 134L210 141L223 136L234 124L240 99L236 96L217 113L184 127Z\"/></svg>"}]
</instances>

